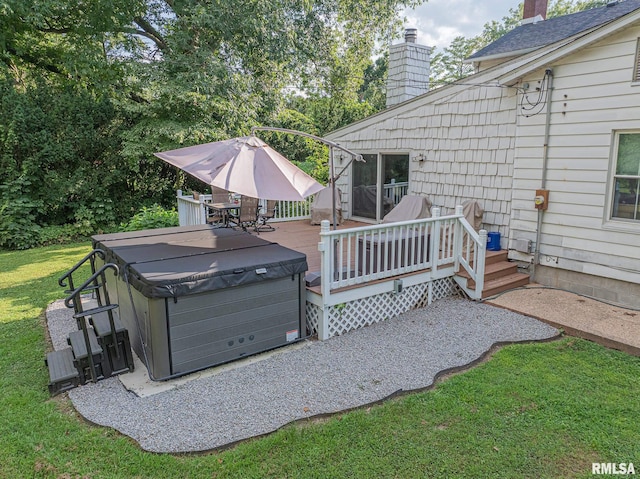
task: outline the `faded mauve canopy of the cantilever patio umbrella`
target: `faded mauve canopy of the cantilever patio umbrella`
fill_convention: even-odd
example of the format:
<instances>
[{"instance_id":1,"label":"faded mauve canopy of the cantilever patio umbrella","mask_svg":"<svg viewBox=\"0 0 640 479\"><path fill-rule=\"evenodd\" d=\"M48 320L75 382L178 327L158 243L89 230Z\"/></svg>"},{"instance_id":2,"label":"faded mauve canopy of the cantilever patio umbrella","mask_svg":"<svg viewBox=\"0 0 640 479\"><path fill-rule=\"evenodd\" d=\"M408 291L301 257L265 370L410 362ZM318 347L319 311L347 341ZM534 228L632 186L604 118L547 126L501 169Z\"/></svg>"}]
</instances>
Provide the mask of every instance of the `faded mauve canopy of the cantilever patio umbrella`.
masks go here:
<instances>
[{"instance_id":1,"label":"faded mauve canopy of the cantilever patio umbrella","mask_svg":"<svg viewBox=\"0 0 640 479\"><path fill-rule=\"evenodd\" d=\"M302 200L324 188L256 136L155 153L207 184L269 200Z\"/></svg>"}]
</instances>

